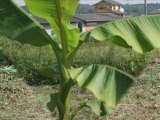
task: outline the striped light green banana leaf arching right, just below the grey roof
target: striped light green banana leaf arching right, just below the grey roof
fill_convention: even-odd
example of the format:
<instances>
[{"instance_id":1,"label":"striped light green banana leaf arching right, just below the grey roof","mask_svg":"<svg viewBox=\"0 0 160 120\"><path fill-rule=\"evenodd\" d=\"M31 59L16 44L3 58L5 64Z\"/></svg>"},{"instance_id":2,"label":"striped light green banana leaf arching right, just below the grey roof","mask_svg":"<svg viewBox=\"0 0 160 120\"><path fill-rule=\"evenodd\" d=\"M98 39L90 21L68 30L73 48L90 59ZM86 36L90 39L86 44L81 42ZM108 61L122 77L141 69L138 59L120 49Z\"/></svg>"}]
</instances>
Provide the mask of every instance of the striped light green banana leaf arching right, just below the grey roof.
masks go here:
<instances>
[{"instance_id":1,"label":"striped light green banana leaf arching right, just below the grey roof","mask_svg":"<svg viewBox=\"0 0 160 120\"><path fill-rule=\"evenodd\" d=\"M160 16L124 18L103 24L81 34L81 41L91 37L143 53L160 48Z\"/></svg>"}]
</instances>

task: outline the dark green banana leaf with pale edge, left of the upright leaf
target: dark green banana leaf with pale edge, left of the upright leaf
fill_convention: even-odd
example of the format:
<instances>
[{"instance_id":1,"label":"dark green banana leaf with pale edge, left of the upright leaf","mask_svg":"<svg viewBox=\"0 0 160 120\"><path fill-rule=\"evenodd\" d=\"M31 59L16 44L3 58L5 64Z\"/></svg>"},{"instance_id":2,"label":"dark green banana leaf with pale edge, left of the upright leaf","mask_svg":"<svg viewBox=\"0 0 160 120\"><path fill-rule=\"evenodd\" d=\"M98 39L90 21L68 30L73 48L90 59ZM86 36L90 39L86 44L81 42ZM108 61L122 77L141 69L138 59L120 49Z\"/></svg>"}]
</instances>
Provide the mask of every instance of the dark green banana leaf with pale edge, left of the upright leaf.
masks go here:
<instances>
[{"instance_id":1,"label":"dark green banana leaf with pale edge, left of the upright leaf","mask_svg":"<svg viewBox=\"0 0 160 120\"><path fill-rule=\"evenodd\" d=\"M43 27L12 0L0 0L0 34L35 46L52 42Z\"/></svg>"}]
</instances>

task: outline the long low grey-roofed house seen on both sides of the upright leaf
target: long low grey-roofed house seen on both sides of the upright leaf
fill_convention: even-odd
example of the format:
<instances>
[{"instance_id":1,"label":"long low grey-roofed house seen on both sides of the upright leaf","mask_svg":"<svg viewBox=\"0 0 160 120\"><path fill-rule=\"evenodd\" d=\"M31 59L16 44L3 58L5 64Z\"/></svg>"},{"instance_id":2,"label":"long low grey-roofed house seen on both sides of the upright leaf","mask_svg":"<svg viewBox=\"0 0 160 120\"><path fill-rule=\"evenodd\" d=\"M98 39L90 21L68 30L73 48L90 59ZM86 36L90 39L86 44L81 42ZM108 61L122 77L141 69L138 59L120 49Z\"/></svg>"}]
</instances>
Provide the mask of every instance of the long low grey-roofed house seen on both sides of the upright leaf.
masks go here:
<instances>
[{"instance_id":1,"label":"long low grey-roofed house seen on both sides of the upright leaf","mask_svg":"<svg viewBox=\"0 0 160 120\"><path fill-rule=\"evenodd\" d=\"M120 5L120 4L117 3L117 5ZM26 8L26 7L24 7L24 8ZM114 8L114 9L117 9L117 8ZM113 21L116 19L121 19L122 16L118 15L119 11L116 11L116 12L117 12L117 14L115 14L113 12L107 12L107 13L100 12L100 13L94 13L94 14L76 14L72 18L70 23L72 25L79 27L81 32L85 32L85 31L92 30L95 27L97 27L98 25L101 25L103 23L110 22L110 21ZM39 17L35 17L35 16L32 16L32 17L34 19L36 19L44 27L44 29L46 30L46 32L49 35L54 34L52 27L50 26L50 24L46 20L39 18Z\"/></svg>"}]
</instances>

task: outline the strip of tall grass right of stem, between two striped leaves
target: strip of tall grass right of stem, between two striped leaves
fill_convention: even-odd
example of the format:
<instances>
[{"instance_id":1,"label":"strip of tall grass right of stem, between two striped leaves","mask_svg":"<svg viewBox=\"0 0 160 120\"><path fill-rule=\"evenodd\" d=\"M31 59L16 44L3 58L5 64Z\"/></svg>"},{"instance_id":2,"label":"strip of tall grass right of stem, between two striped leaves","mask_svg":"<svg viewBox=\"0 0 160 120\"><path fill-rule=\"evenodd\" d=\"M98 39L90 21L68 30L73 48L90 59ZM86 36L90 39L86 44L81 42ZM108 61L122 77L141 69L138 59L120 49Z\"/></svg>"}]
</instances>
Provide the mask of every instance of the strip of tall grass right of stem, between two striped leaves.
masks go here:
<instances>
[{"instance_id":1,"label":"strip of tall grass right of stem, between two striped leaves","mask_svg":"<svg viewBox=\"0 0 160 120\"><path fill-rule=\"evenodd\" d=\"M77 66L87 64L108 64L138 75L147 65L149 54L137 54L106 42L88 42L81 46L76 57Z\"/></svg>"}]
</instances>

